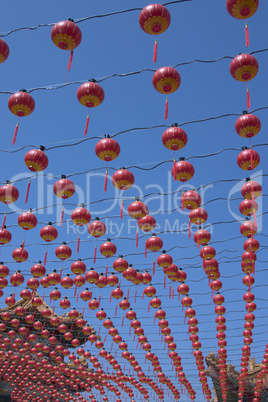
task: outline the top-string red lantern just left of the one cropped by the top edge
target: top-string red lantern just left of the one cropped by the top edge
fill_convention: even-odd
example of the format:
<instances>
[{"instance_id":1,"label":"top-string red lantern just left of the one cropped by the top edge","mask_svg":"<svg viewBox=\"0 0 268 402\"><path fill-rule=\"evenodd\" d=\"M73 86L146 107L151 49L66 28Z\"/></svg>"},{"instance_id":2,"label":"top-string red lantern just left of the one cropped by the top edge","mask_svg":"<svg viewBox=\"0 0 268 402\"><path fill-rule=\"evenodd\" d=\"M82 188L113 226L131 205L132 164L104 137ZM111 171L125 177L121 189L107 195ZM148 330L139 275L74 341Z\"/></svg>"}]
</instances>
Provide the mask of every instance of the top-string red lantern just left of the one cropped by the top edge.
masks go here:
<instances>
[{"instance_id":1,"label":"top-string red lantern just left of the one cropped by the top edge","mask_svg":"<svg viewBox=\"0 0 268 402\"><path fill-rule=\"evenodd\" d=\"M150 35L159 35L167 30L171 21L169 11L161 4L150 4L143 8L139 16L141 29ZM157 60L157 39L154 45L153 62Z\"/></svg>"}]
</instances>

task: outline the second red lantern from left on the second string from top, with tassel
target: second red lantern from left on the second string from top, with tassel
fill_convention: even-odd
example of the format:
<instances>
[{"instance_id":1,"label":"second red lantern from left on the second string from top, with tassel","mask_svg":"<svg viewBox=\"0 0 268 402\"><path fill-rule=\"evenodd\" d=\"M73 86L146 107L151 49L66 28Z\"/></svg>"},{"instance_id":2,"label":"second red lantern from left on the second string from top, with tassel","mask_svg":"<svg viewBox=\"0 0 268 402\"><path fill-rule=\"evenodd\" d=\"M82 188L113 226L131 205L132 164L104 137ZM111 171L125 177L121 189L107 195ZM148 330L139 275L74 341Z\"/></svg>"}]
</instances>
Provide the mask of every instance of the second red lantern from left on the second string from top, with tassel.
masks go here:
<instances>
[{"instance_id":1,"label":"second red lantern from left on the second string from top, with tassel","mask_svg":"<svg viewBox=\"0 0 268 402\"><path fill-rule=\"evenodd\" d=\"M92 79L80 85L77 90L77 99L79 102L88 108L99 106L104 100L104 91L102 87ZM87 116L84 135L87 133L89 123L89 114Z\"/></svg>"}]
</instances>

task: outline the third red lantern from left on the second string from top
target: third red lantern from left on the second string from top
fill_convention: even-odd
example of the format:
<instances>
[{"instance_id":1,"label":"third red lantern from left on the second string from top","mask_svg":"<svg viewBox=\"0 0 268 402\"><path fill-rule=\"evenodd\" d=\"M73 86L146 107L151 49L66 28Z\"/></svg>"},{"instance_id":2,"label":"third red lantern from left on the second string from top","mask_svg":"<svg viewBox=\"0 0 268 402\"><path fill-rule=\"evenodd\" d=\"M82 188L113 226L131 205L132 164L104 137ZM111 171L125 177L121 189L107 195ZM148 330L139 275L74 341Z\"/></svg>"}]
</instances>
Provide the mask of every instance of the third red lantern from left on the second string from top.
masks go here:
<instances>
[{"instance_id":1,"label":"third red lantern from left on the second string from top","mask_svg":"<svg viewBox=\"0 0 268 402\"><path fill-rule=\"evenodd\" d=\"M162 67L156 70L153 75L153 86L154 88L162 94L171 94L175 92L180 84L181 77L175 68L172 67ZM168 117L168 99L166 99L165 107L165 120Z\"/></svg>"}]
</instances>

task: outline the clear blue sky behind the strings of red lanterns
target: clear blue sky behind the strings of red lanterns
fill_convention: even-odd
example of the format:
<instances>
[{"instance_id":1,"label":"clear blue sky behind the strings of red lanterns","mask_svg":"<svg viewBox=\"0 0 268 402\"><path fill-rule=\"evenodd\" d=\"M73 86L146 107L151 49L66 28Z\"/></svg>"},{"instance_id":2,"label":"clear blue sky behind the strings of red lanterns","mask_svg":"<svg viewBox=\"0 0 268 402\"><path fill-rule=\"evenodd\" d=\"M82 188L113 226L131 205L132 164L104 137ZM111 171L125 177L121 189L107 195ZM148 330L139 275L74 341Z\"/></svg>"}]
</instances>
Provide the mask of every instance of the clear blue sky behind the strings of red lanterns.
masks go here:
<instances>
[{"instance_id":1,"label":"clear blue sky behind the strings of red lanterns","mask_svg":"<svg viewBox=\"0 0 268 402\"><path fill-rule=\"evenodd\" d=\"M148 3L137 0L128 2L108 0L103 1L79 1L58 0L56 3L47 1L36 2L28 0L27 3L17 0L3 2L0 17L0 31L6 33L18 27L33 27L38 24L56 23L58 21L73 18L79 20L83 17L109 13L126 8L145 7ZM36 30L22 30L3 37L10 48L8 60L0 65L0 129L2 133L1 149L14 151L18 148L25 149L18 152L1 152L1 183L6 179L20 179L29 177L24 165L24 154L31 149L31 145L44 145L46 148L59 146L47 151L49 166L44 172L46 176L40 176L32 180L29 201L27 207L39 208L37 214L38 226L27 233L26 249L29 251L29 261L17 266L12 260L12 250L19 245L24 233L17 225L17 214L11 214L7 218L7 225L12 232L12 242L1 249L1 258L8 265L11 272L22 269L25 278L30 276L30 267L33 261L43 259L45 245L39 238L39 230L48 221L57 221L56 197L52 187L56 178L61 174L72 175L86 172L70 177L79 188L79 196L75 194L65 203L65 219L79 202L89 203L88 206L92 217L100 216L107 223L110 233L108 237L114 238L116 231L121 230L120 236L114 239L118 254L129 255L126 257L129 263L141 271L152 270L154 256L148 253L144 259L144 240L139 241L139 248L135 248L135 222L131 220L125 211L122 221L119 219L120 203L122 194L116 192L111 181L108 182L108 190L103 192L104 173L106 165L99 160L94 152L98 138L104 134L114 135L124 130L137 128L117 135L115 139L121 147L120 156L109 167L118 169L122 166L134 166L130 170L135 176L135 187L124 193L125 207L137 195L149 193L172 193L186 186L174 183L170 170L173 153L163 147L161 136L166 126L172 123L182 125L186 122L198 121L226 114L233 116L220 119L208 120L205 122L188 123L182 128L188 135L186 147L178 151L176 157L191 157L189 160L195 168L195 175L189 181L189 186L199 188L202 185L211 184L205 187L203 201L209 202L205 208L208 212L208 223L212 224L212 242L217 251L217 259L220 263L221 280L223 283L223 294L226 299L226 320L227 320L227 352L228 361L239 367L241 358L241 347L243 346L243 324L246 313L243 294L246 292L242 284L242 271L240 267L241 254L243 253L244 238L239 232L239 223L233 222L239 214L239 203L242 200L230 201L231 210L228 208L227 199L231 194L232 198L241 197L239 189L248 174L239 169L236 164L236 157L242 146L249 146L249 141L239 137L234 129L235 121L240 113L246 108L246 85L235 81L229 73L231 58L238 53L247 53L267 48L266 41L266 17L268 5L263 1L254 17L249 19L250 48L245 47L244 22L231 18L225 8L225 2L214 2L209 0L189 1L181 4L168 6L171 14L169 29L158 38L158 60L155 65L152 63L154 38L145 34L138 24L139 11L133 11L121 15L105 18L95 18L81 22L79 27L82 31L82 42L74 51L74 58L71 71L68 75L68 86L54 90L35 90L31 95L35 99L36 108L31 116L21 119L16 145L12 147L12 136L17 119L7 107L9 94L5 92L16 92L21 88L27 90L39 87L51 87L63 84L68 64L68 52L58 49L51 41L51 27L41 27ZM216 60L223 56L230 56L215 63L194 62L188 65L178 66L177 70L181 76L181 86L177 92L169 97L169 117L164 121L165 96L155 91L152 85L153 72L147 71L140 74L113 77L104 79L100 85L104 89L105 99L98 107L91 110L90 123L87 138L94 137L80 145L77 143L83 138L84 125L87 110L77 101L76 91L80 84L76 81L86 81L90 78L97 80L112 74L124 74L143 69L157 69L162 66L173 66L191 60ZM251 110L267 107L267 52L257 53L259 62L259 73L249 83L251 94ZM237 115L237 116L235 116ZM265 144L265 133L267 131L266 109L256 112L262 123L262 129L257 137L254 137L252 144ZM154 129L146 129L153 126L161 126ZM97 138L96 138L97 137ZM71 145L62 147L62 145ZM29 146L29 147L28 147ZM228 149L228 150L226 150ZM212 153L226 150L216 156L202 157ZM264 195L266 192L267 178L265 175L267 154L266 146L259 146L256 150L260 153L261 163L253 172L258 176L263 186ZM167 161L159 167L153 168L160 162ZM168 162L170 161L170 162ZM139 167L139 168L137 168ZM99 176L90 172L98 170ZM140 168L153 168L141 170ZM114 171L109 169L111 175ZM223 180L234 180L223 182ZM20 191L20 198L16 203L19 210L24 210L24 196L26 191L24 180L17 184ZM187 183L188 184L188 183ZM234 187L236 185L236 187ZM200 193L201 194L201 193ZM202 194L201 194L202 195ZM114 199L117 199L114 201ZM202 343L202 352L206 356L211 350L217 350L216 324L214 304L211 301L211 292L207 285L207 278L202 269L202 260L199 257L196 244L193 238L188 239L185 233L170 233L172 228L185 229L188 225L188 216L180 210L180 202L176 195L162 195L145 197L149 210L155 212L155 219L160 224L158 232L164 242L164 249L169 250L175 263L181 266L188 275L186 283L190 287L190 296L193 299L193 307L197 312L199 320L199 336ZM262 197L259 208L262 213L266 211L266 197ZM50 205L49 209L42 209ZM51 205L54 205L53 207ZM178 207L179 206L179 207ZM6 211L5 205L0 206L0 213ZM41 208L41 209L40 209ZM179 210L178 210L179 209ZM171 212L172 211L172 212ZM232 214L236 214L237 218ZM1 215L1 216L2 216ZM221 223L219 223L221 222ZM122 226L123 224L123 226ZM113 225L113 226L111 226ZM117 225L117 226L116 226ZM255 286L253 293L256 297L257 310L256 321L253 331L252 356L257 362L262 360L266 345L267 320L266 309L268 299L266 297L267 273L265 263L267 262L266 242L267 217L263 215L258 220L260 232L257 237L261 248L258 252L256 263ZM117 229L116 229L117 228ZM74 232L70 225L65 222L63 228L58 228L58 243L62 241L71 242L73 255L72 260L77 258L76 239L77 232ZM106 239L103 239L103 241ZM234 239L234 240L230 240ZM102 239L98 241L98 246ZM93 249L95 241L81 234L81 248L78 257L87 259L87 267L92 266ZM55 261L54 249L56 244L49 246L47 271L54 268L60 270L61 263ZM112 260L112 261L111 261ZM108 260L109 272L113 271L112 262ZM96 264L96 270L100 273L105 270L106 260L100 258ZM70 263L63 264L63 272L70 272ZM183 324L183 313L181 304L177 301L177 285L175 286L176 297L171 303L168 297L168 286L163 288L163 273L157 267L153 284L157 289L157 295L161 298L162 308L167 312L167 319L170 323L172 335L176 342L178 354L182 357L182 366L186 377L195 389L198 398L202 397L202 389L198 381L198 371L195 361L191 356L191 343L188 340L188 327ZM122 279L122 288L126 294L129 283ZM173 286L173 285L172 285ZM16 290L16 297L19 298L19 291ZM163 349L161 337L158 336L158 328L153 324L153 313L151 309L147 312L147 301L141 300L143 286L134 287L131 284L130 301L134 303L135 290L138 292L138 300L133 304L133 309L145 330L145 335L152 344L152 350L159 356L163 371L176 385L177 381L174 372L171 370L170 360L166 350ZM13 288L5 289L5 295L13 291ZM43 289L40 291L43 294ZM45 297L49 291L45 291ZM101 293L101 306L113 317L115 301L109 304L110 289L99 289L94 287L93 294L98 297ZM67 294L67 293L66 293ZM81 310L82 302L76 305L73 298L73 289L69 291L70 300ZM47 299L48 300L48 299ZM4 297L0 301L4 307ZM56 303L56 311L62 314L59 302ZM87 311L87 309L86 309ZM95 318L94 312L90 312L88 321L96 326L100 322ZM122 312L118 311L114 322L121 325ZM125 320L126 321L126 320ZM128 323L127 323L128 324ZM145 374L148 374L148 364L143 365L144 352L136 350L136 342L128 336L128 326L121 328L120 334L129 343L129 350L137 356ZM105 337L107 331L101 326L101 336ZM109 336L108 336L109 338ZM109 340L107 339L107 350ZM113 349L114 350L114 349ZM106 362L105 362L106 364ZM123 364L122 364L123 365ZM127 366L128 367L128 366ZM164 387L167 390L166 387ZM178 386L180 389L180 387ZM186 395L181 396L186 401Z\"/></svg>"}]
</instances>

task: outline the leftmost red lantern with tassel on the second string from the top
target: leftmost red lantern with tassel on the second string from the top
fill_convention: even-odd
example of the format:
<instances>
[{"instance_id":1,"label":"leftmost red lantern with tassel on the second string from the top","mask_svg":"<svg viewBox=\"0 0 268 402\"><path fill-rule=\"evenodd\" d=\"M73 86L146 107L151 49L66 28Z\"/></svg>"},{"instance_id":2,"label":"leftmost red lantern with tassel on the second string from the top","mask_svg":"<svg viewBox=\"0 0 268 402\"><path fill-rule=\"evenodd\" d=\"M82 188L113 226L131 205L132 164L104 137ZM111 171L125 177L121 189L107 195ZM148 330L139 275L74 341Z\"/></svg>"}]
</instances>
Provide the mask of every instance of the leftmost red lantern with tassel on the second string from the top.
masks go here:
<instances>
[{"instance_id":1,"label":"leftmost red lantern with tassel on the second string from the top","mask_svg":"<svg viewBox=\"0 0 268 402\"><path fill-rule=\"evenodd\" d=\"M19 128L19 118L29 116L35 108L35 102L30 94L27 94L25 89L14 93L8 99L8 108L15 116L18 116L18 123L16 124L12 145L16 142L16 137Z\"/></svg>"}]
</instances>

